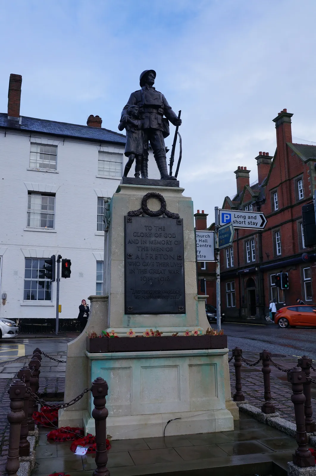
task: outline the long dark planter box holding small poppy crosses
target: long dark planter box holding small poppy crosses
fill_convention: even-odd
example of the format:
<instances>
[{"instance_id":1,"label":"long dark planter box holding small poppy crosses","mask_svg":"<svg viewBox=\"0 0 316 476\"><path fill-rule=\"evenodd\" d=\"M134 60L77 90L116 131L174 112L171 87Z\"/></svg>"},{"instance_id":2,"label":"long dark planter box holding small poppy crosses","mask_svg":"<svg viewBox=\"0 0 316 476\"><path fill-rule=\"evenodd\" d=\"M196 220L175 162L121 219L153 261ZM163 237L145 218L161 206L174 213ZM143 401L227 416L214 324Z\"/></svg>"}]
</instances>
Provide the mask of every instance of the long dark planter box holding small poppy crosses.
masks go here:
<instances>
[{"instance_id":1,"label":"long dark planter box holding small poppy crosses","mask_svg":"<svg viewBox=\"0 0 316 476\"><path fill-rule=\"evenodd\" d=\"M148 352L150 350L223 349L227 336L87 337L87 350L95 352Z\"/></svg>"}]
</instances>

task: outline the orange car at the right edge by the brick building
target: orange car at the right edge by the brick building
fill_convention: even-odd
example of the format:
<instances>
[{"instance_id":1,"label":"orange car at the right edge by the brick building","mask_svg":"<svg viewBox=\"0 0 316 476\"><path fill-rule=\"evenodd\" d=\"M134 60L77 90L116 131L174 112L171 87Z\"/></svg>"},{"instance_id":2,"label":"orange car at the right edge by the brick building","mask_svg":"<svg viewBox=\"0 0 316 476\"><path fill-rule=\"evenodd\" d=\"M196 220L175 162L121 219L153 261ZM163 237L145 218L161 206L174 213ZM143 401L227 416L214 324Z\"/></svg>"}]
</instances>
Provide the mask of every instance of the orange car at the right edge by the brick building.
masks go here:
<instances>
[{"instance_id":1,"label":"orange car at the right edge by the brick building","mask_svg":"<svg viewBox=\"0 0 316 476\"><path fill-rule=\"evenodd\" d=\"M274 322L280 327L310 326L316 327L316 306L284 306L281 307Z\"/></svg>"}]
</instances>

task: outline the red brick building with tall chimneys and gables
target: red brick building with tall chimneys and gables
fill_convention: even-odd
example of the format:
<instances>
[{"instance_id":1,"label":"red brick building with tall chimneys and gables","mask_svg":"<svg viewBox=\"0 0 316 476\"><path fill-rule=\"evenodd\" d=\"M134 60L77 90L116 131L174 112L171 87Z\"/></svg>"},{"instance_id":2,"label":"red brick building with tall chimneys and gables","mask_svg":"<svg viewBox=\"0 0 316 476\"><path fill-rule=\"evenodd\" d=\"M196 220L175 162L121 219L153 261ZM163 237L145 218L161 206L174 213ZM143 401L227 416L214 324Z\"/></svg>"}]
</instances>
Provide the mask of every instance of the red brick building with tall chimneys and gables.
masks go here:
<instances>
[{"instance_id":1,"label":"red brick building with tall chimneys and gables","mask_svg":"<svg viewBox=\"0 0 316 476\"><path fill-rule=\"evenodd\" d=\"M223 203L222 208L244 215L261 211L267 218L263 231L236 228L232 246L220 252L221 310L227 317L262 318L270 299L277 308L297 297L316 301L315 250L305 246L302 227L302 205L312 203L316 187L316 146L292 143L292 116L283 109L273 119L277 149L274 156L259 152L255 158L258 182L250 186L250 170L238 167L237 193ZM275 286L281 271L288 273L288 290Z\"/></svg>"}]
</instances>

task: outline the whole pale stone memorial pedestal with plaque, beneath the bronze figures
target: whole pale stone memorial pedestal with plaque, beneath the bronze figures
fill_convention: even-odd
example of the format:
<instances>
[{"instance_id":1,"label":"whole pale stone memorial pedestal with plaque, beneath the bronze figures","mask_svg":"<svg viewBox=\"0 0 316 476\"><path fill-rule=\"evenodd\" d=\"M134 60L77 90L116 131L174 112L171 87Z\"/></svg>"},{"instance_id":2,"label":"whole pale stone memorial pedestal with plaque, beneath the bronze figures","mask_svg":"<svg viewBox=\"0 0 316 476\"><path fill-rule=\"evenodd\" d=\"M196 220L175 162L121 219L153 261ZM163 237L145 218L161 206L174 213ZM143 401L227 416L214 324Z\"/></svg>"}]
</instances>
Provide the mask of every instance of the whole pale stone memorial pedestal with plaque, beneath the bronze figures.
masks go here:
<instances>
[{"instance_id":1,"label":"whole pale stone memorial pedestal with plaque, beneath the bronze figures","mask_svg":"<svg viewBox=\"0 0 316 476\"><path fill-rule=\"evenodd\" d=\"M109 385L108 433L114 439L233 430L238 408L231 401L227 348L157 350L155 344L156 351L87 352L88 330L99 336L114 329L127 337L130 328L138 335L153 329L166 337L209 327L207 296L197 293L191 198L176 181L170 186L172 181L135 180L124 179L110 201L105 296L89 297L87 326L68 343L65 401L103 377ZM92 405L88 393L59 410L59 426L84 424L94 434Z\"/></svg>"}]
</instances>

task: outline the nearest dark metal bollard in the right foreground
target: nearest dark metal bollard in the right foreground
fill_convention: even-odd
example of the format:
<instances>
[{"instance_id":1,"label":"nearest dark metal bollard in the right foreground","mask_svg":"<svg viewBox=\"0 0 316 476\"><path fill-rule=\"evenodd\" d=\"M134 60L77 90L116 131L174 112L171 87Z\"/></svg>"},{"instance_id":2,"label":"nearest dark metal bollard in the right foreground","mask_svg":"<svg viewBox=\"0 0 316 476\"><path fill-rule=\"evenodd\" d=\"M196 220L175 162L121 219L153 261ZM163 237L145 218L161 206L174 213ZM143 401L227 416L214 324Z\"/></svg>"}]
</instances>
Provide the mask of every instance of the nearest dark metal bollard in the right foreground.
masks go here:
<instances>
[{"instance_id":1,"label":"nearest dark metal bollard in the right foreground","mask_svg":"<svg viewBox=\"0 0 316 476\"><path fill-rule=\"evenodd\" d=\"M293 463L301 468L315 466L315 457L307 447L308 439L305 429L303 384L306 382L305 372L298 367L293 367L287 372L287 381L292 384L293 395L291 400L294 404L295 422L296 422L296 441L297 449L293 454Z\"/></svg>"}]
</instances>

